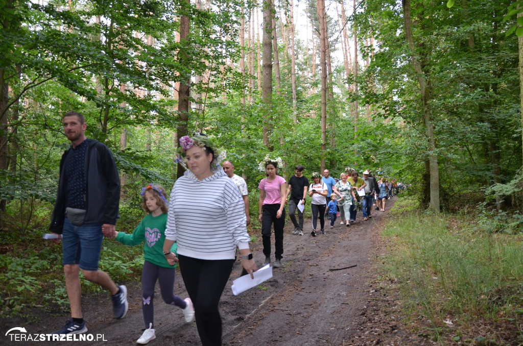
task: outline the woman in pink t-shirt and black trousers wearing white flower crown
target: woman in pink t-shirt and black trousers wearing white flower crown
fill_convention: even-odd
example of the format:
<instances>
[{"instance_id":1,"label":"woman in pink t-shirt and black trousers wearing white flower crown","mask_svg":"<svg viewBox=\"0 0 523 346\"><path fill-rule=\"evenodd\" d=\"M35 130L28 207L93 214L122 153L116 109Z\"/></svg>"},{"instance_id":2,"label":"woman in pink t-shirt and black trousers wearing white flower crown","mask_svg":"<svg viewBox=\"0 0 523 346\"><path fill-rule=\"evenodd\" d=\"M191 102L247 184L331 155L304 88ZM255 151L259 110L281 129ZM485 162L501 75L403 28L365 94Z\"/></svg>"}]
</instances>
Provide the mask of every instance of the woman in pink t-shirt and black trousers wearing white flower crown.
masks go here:
<instances>
[{"instance_id":1,"label":"woman in pink t-shirt and black trousers wearing white flower crown","mask_svg":"<svg viewBox=\"0 0 523 346\"><path fill-rule=\"evenodd\" d=\"M263 240L263 253L265 253L263 265L270 263L270 228L274 224L276 262L272 267L280 268L280 260L283 255L286 181L277 175L278 163L276 160L267 159L264 163L267 177L261 179L258 185L258 189L260 189L258 220L261 222L261 239Z\"/></svg>"}]
</instances>

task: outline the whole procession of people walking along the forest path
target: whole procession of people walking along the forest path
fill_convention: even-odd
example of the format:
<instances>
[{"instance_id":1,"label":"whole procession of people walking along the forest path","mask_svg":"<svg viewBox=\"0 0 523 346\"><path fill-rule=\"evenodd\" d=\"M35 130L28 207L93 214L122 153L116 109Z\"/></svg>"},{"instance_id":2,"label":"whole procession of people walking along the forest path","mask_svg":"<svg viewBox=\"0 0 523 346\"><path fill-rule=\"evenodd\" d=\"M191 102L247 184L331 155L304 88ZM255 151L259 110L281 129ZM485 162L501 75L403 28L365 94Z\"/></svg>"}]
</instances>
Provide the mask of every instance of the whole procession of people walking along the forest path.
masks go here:
<instances>
[{"instance_id":1,"label":"whole procession of people walking along the forest path","mask_svg":"<svg viewBox=\"0 0 523 346\"><path fill-rule=\"evenodd\" d=\"M115 318L126 315L127 287L117 285L98 268L105 236L129 246L143 243L145 328L137 343L146 344L156 337L153 302L158 281L166 304L179 307L187 323L196 318L201 343L204 346L221 345L222 322L218 305L236 260L236 248L240 251L245 273L254 279L253 273L258 269L249 250L251 237L246 228L251 223L247 184L234 174L234 165L225 160L225 151L202 133L181 137L176 162L186 168L184 175L174 183L169 199L160 185L147 184L142 188L141 203L147 215L132 234L127 234L117 232L115 226L119 217L120 179L111 152L105 144L85 136L87 123L81 113L67 112L63 126L72 146L64 152L60 162L58 194L50 229L58 237L54 241L62 241L71 318L53 334L87 332L81 307L80 271L85 279L110 292ZM311 198L311 236L315 237L326 233L325 216L331 220L331 228L338 216L341 224L355 223L360 196L363 220L371 217L374 198L379 210L384 211L385 200L392 195L394 187L396 193L399 187L383 177L377 181L368 170L360 178L351 169L346 169L339 180L330 177L327 169L323 176L313 172L312 183L309 183L303 175L302 165L295 166L295 174L287 186L287 181L278 175L281 165L280 158L272 159L268 155L259 163L259 169L266 174L258 184L263 265L271 262L271 228L274 225L274 268L282 267L287 203L294 225L292 233L303 235L304 206L308 197ZM201 210L205 213L198 213L196 221L195 211ZM188 293L185 299L174 294L177 263Z\"/></svg>"}]
</instances>

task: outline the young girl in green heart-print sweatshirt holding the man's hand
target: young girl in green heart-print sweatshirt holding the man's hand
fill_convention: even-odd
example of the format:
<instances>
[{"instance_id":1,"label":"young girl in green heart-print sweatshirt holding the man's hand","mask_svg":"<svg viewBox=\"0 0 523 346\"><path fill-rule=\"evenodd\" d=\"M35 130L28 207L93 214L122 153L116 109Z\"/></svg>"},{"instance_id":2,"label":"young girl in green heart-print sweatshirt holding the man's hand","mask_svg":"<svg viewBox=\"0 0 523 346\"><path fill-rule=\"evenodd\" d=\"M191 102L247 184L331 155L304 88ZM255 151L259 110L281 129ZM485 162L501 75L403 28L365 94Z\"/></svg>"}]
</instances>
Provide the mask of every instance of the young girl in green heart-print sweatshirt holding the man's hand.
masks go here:
<instances>
[{"instance_id":1,"label":"young girl in green heart-print sweatshirt holding the man's hand","mask_svg":"<svg viewBox=\"0 0 523 346\"><path fill-rule=\"evenodd\" d=\"M160 291L166 304L176 305L181 308L185 322L194 319L195 310L191 299L181 299L173 293L176 266L170 266L163 254L165 241L165 228L167 226L167 194L160 185L149 184L142 188L142 208L149 213L134 229L132 234L113 232L110 237L116 237L120 243L134 246L141 243L145 261L142 269L142 313L145 322L145 331L139 344L146 344L156 338L154 330L154 286L160 282ZM176 243L170 248L176 255Z\"/></svg>"}]
</instances>

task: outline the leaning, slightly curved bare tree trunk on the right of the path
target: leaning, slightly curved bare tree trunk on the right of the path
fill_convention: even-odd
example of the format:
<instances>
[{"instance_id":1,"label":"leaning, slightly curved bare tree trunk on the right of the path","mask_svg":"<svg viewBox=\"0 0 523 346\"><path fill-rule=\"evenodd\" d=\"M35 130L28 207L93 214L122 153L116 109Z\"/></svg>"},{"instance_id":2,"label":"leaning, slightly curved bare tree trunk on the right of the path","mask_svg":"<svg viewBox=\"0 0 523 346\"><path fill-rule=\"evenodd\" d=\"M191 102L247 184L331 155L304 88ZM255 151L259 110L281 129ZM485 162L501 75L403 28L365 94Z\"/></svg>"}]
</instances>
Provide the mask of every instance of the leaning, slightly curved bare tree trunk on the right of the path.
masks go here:
<instances>
[{"instance_id":1,"label":"leaning, slightly curved bare tree trunk on the right of the path","mask_svg":"<svg viewBox=\"0 0 523 346\"><path fill-rule=\"evenodd\" d=\"M436 154L436 137L434 134L434 123L432 120L432 108L430 106L430 87L429 78L422 70L418 61L414 38L412 37L412 19L411 19L411 0L403 0L403 20L405 22L405 38L408 48L412 52L412 64L417 74L419 89L423 100L423 123L427 129L427 139L429 146L429 169L430 169L430 206L429 209L434 213L439 213L439 168L438 155ZM426 82L427 80L427 82Z\"/></svg>"}]
</instances>

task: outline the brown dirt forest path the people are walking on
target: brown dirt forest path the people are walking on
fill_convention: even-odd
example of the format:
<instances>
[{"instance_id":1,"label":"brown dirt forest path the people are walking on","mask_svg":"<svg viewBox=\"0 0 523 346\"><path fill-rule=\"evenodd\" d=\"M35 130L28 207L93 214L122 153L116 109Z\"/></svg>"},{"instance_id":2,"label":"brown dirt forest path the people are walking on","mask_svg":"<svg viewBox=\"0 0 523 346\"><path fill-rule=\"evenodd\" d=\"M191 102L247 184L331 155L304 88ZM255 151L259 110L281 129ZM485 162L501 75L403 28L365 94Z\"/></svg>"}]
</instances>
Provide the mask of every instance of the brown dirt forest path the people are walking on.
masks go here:
<instances>
[{"instance_id":1,"label":"brown dirt forest path the people are walking on","mask_svg":"<svg viewBox=\"0 0 523 346\"><path fill-rule=\"evenodd\" d=\"M310 219L305 220L305 235L292 235L292 223L287 217L282 259L285 266L274 269L272 279L234 296L231 284L241 272L240 262L235 263L220 303L223 344L376 344L380 342L380 335L394 332L395 326L383 330L370 323L379 319L376 317L380 315L378 312L376 316L369 315L370 305L378 300L394 304L394 299L371 298L383 298L386 294L372 290L372 280L376 277L375 259L385 251L380 239L381 227L394 200L389 201L386 212L373 210L369 221L363 222L359 212L358 222L350 227L340 225L339 220L333 229L326 223L327 234L316 237L310 235ZM310 215L310 210L306 210L306 215ZM265 257L261 251L261 236L256 236L257 243L251 249L260 266ZM354 265L356 267L346 268ZM346 269L337 270L340 268ZM128 289L130 308L122 320L112 318L107 296L84 297L88 333L102 334L106 340L88 344L132 345L141 336L141 286L128 283ZM183 298L187 296L181 275L177 275L175 293ZM154 302L156 339L150 342L151 345L200 344L196 325L185 324L179 308L163 303L158 286ZM61 327L66 318L64 314L25 327L29 333L47 333Z\"/></svg>"}]
</instances>

